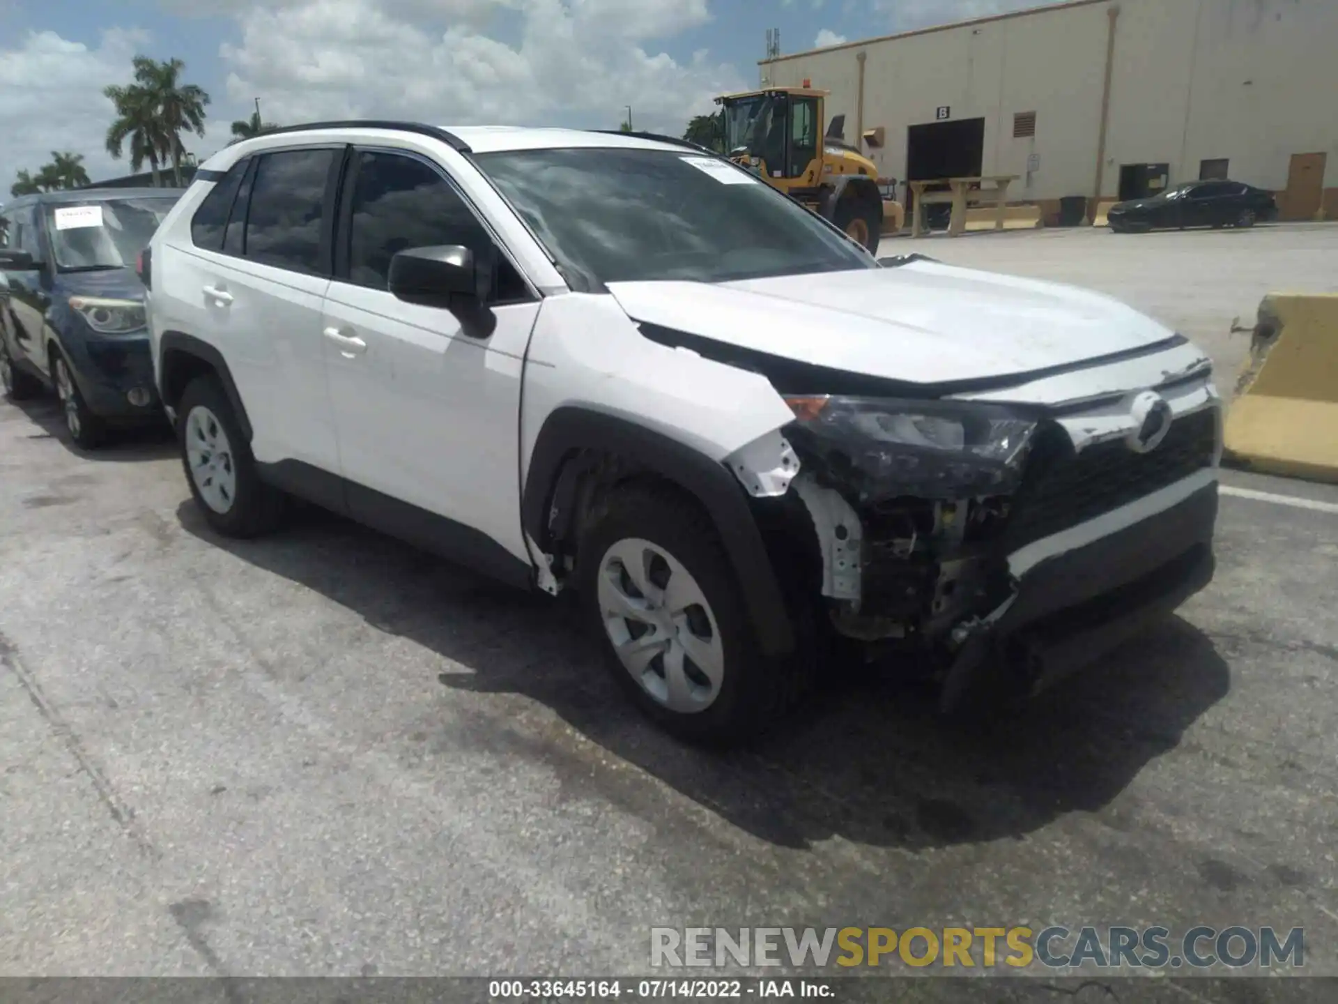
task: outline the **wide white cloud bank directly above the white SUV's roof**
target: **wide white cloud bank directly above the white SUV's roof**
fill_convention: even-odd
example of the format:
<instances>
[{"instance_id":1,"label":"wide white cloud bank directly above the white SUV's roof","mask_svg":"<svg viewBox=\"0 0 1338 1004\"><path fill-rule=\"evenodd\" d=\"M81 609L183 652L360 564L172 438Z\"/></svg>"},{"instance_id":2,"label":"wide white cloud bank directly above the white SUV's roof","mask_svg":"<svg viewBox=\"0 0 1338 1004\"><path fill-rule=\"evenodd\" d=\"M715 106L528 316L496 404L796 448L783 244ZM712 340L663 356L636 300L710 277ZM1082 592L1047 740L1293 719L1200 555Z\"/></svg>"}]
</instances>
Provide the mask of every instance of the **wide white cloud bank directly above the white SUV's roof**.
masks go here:
<instances>
[{"instance_id":1,"label":"wide white cloud bank directly above the white SUV's roof","mask_svg":"<svg viewBox=\"0 0 1338 1004\"><path fill-rule=\"evenodd\" d=\"M219 0L221 1L221 0ZM681 131L737 68L678 62L652 40L709 20L706 0L244 0L225 44L227 95L266 119L415 118ZM516 39L482 25L506 12Z\"/></svg>"}]
</instances>

